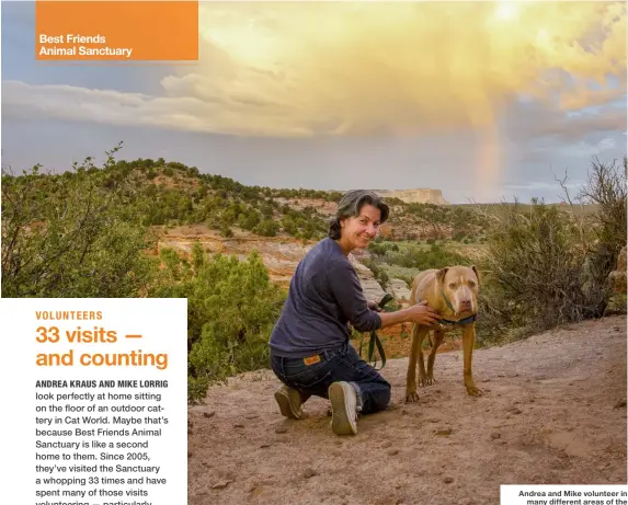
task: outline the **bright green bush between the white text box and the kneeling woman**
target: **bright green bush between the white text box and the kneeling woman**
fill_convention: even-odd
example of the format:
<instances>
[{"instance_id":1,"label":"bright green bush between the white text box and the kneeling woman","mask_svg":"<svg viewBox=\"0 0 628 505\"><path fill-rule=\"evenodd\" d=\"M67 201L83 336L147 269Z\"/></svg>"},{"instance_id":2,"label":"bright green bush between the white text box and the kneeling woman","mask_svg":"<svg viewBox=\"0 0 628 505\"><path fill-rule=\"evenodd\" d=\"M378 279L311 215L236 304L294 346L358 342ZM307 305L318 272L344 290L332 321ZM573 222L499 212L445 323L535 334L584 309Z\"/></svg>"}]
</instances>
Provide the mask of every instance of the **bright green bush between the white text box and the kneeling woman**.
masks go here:
<instances>
[{"instance_id":1,"label":"bright green bush between the white text box and the kneeling woman","mask_svg":"<svg viewBox=\"0 0 628 505\"><path fill-rule=\"evenodd\" d=\"M150 297L187 298L189 401L207 386L269 366L269 337L285 292L270 282L261 256L210 257L196 243L190 260L164 249L165 267Z\"/></svg>"}]
</instances>

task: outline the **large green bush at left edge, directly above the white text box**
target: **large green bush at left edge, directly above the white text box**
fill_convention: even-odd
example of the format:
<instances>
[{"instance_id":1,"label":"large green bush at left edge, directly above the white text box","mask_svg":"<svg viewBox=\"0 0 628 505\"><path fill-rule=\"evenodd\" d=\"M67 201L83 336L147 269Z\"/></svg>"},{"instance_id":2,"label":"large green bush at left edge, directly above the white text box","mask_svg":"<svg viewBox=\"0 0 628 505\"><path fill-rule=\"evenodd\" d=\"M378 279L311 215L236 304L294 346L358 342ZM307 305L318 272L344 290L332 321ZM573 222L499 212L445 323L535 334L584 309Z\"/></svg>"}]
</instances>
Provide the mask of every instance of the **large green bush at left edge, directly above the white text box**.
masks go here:
<instances>
[{"instance_id":1,"label":"large green bush at left edge, directly above the white text box","mask_svg":"<svg viewBox=\"0 0 628 505\"><path fill-rule=\"evenodd\" d=\"M104 169L113 165L107 153ZM105 187L88 158L71 172L2 171L3 297L136 297L156 265L125 181Z\"/></svg>"}]
</instances>

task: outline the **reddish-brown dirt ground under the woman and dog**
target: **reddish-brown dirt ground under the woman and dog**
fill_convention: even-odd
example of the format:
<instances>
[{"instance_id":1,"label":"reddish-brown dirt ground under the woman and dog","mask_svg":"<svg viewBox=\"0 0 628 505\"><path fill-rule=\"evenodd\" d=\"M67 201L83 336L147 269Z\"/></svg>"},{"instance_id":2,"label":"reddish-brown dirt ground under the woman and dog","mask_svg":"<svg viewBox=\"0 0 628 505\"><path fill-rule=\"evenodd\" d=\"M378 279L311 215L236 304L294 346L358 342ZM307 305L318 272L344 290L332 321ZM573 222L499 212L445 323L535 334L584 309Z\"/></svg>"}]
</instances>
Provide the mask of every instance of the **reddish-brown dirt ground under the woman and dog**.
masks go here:
<instances>
[{"instance_id":1,"label":"reddish-brown dirt ground under the woman and dog","mask_svg":"<svg viewBox=\"0 0 628 505\"><path fill-rule=\"evenodd\" d=\"M478 349L481 398L461 351L439 354L416 404L391 359L390 409L355 437L333 435L326 400L285 420L272 372L238 377L190 410L187 503L476 505L499 504L500 484L626 484L626 336L610 317Z\"/></svg>"}]
</instances>

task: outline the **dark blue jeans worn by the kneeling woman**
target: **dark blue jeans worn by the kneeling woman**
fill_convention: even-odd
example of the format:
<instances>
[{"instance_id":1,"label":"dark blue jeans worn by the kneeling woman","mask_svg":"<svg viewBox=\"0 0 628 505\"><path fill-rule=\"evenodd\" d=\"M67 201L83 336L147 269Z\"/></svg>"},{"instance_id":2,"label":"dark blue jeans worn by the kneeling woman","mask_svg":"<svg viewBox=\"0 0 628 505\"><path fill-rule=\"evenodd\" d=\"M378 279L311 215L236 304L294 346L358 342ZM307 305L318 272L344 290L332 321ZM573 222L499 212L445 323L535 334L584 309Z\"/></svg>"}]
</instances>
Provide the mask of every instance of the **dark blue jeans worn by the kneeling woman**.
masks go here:
<instances>
[{"instance_id":1,"label":"dark blue jeans worn by the kneeling woman","mask_svg":"<svg viewBox=\"0 0 628 505\"><path fill-rule=\"evenodd\" d=\"M382 411L390 402L390 385L351 345L321 352L310 361L316 363L307 365L304 358L285 358L271 353L273 371L284 385L300 392L302 402L311 395L328 398L330 385L341 380L355 389L361 414Z\"/></svg>"}]
</instances>

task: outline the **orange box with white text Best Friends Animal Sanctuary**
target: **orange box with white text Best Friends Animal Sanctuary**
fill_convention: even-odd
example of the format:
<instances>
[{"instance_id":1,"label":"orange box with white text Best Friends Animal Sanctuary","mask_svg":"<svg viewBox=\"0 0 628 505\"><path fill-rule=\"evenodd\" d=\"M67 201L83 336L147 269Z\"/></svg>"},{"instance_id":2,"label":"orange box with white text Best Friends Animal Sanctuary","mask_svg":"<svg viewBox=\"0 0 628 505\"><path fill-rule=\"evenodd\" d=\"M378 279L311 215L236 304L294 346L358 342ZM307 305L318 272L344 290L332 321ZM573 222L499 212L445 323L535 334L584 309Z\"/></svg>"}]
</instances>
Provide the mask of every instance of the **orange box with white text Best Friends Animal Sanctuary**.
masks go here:
<instances>
[{"instance_id":1,"label":"orange box with white text Best Friends Animal Sanctuary","mask_svg":"<svg viewBox=\"0 0 628 505\"><path fill-rule=\"evenodd\" d=\"M198 1L35 2L35 59L198 59Z\"/></svg>"}]
</instances>

